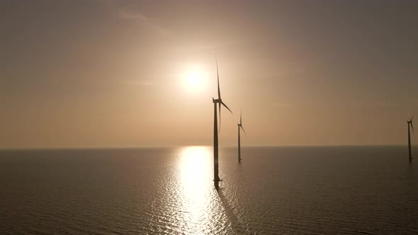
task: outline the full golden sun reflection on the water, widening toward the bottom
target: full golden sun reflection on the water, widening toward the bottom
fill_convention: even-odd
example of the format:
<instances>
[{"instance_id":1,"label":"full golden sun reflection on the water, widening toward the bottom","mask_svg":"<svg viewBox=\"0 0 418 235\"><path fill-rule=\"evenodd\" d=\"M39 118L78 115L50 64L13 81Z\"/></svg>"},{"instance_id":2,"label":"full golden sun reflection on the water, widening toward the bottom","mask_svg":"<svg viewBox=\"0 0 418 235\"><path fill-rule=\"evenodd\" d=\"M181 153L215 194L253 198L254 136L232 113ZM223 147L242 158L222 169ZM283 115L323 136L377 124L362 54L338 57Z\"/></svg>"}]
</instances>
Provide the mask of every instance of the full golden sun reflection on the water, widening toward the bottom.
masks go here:
<instances>
[{"instance_id":1,"label":"full golden sun reflection on the water, widening toward the bottom","mask_svg":"<svg viewBox=\"0 0 418 235\"><path fill-rule=\"evenodd\" d=\"M142 229L149 234L242 234L237 232L239 215L232 209L234 193L228 189L232 187L221 185L217 191L213 185L212 148L169 151L167 161L160 161L158 178L152 179L152 187L159 190L150 196L149 225ZM226 172L222 176L227 176Z\"/></svg>"}]
</instances>

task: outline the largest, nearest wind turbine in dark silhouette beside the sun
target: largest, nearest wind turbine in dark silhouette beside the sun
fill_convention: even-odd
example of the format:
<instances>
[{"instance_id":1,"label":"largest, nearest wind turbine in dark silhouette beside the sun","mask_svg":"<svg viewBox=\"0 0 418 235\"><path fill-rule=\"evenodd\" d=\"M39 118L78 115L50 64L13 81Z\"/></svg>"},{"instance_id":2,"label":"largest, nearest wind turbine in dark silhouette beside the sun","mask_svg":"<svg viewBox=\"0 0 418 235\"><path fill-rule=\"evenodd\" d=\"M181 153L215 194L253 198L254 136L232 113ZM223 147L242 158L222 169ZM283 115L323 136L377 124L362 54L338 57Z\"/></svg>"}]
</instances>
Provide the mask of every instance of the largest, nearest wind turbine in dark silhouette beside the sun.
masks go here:
<instances>
[{"instance_id":1,"label":"largest, nearest wind turbine in dark silhouette beside the sun","mask_svg":"<svg viewBox=\"0 0 418 235\"><path fill-rule=\"evenodd\" d=\"M225 103L222 102L222 98L220 98L220 86L219 86L219 71L218 71L218 59L216 59L216 74L218 76L218 98L214 99L213 101L213 182L215 183L215 188L219 189L219 161L218 161L218 108L216 108L216 104L219 104L219 132L220 132L220 107L224 105L227 110L230 110ZM232 111L230 110L232 113Z\"/></svg>"}]
</instances>

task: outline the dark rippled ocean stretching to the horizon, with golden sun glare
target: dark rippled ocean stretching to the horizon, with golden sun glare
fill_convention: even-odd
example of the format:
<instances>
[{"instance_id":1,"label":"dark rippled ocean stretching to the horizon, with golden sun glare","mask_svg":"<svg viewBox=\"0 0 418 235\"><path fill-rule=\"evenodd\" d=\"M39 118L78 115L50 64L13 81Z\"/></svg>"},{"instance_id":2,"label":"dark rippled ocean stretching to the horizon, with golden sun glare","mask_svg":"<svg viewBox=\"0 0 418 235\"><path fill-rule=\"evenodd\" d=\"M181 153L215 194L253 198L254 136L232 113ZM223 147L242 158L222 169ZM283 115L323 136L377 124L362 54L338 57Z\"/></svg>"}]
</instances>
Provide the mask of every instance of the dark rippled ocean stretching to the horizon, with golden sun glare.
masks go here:
<instances>
[{"instance_id":1,"label":"dark rippled ocean stretching to the horizon, with golden sun glare","mask_svg":"<svg viewBox=\"0 0 418 235\"><path fill-rule=\"evenodd\" d=\"M0 151L0 234L418 234L418 148ZM416 154L415 154L416 153Z\"/></svg>"}]
</instances>

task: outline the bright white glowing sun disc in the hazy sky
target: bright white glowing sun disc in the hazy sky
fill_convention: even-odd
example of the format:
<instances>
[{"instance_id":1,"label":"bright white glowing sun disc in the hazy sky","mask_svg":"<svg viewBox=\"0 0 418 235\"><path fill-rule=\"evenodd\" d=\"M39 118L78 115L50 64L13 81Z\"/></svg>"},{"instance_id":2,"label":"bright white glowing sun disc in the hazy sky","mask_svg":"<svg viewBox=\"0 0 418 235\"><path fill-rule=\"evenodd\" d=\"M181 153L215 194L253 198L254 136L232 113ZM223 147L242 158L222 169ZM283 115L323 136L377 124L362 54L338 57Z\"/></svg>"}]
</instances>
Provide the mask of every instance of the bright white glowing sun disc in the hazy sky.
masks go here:
<instances>
[{"instance_id":1,"label":"bright white glowing sun disc in the hazy sky","mask_svg":"<svg viewBox=\"0 0 418 235\"><path fill-rule=\"evenodd\" d=\"M183 87L189 92L203 91L208 80L208 73L200 67L191 67L183 73Z\"/></svg>"}]
</instances>

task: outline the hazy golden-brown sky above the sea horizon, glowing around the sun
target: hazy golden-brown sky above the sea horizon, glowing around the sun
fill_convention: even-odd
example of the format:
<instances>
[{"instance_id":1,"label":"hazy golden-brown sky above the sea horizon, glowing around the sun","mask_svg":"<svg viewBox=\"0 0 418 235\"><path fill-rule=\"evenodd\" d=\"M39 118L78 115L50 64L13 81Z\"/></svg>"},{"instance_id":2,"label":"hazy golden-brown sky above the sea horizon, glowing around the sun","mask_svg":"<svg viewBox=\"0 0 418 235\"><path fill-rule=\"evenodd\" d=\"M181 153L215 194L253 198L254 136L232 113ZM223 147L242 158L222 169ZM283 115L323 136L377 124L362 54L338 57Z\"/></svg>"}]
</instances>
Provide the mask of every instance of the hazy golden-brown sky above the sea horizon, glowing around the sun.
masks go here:
<instances>
[{"instance_id":1,"label":"hazy golden-brown sky above the sea horizon, glowing around the sun","mask_svg":"<svg viewBox=\"0 0 418 235\"><path fill-rule=\"evenodd\" d=\"M418 1L2 0L0 147L212 144L214 53L221 145L240 108L242 146L407 144L417 22Z\"/></svg>"}]
</instances>

